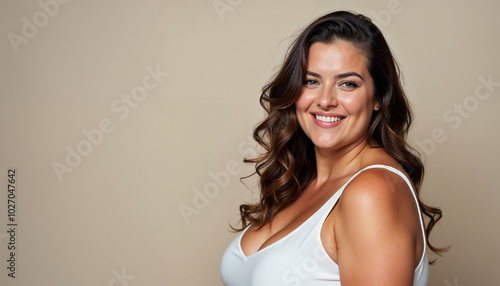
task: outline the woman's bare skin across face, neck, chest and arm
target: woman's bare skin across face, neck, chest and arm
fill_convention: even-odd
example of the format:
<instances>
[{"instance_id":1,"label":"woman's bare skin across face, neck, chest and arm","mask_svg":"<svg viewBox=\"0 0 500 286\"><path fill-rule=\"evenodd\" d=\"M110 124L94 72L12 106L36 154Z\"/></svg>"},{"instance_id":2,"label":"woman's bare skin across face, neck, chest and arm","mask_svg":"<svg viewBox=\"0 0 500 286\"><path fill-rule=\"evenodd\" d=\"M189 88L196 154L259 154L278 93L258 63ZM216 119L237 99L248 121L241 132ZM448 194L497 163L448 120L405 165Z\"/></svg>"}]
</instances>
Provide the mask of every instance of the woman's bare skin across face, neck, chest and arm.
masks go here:
<instances>
[{"instance_id":1,"label":"woman's bare skin across face, neck, chest and arm","mask_svg":"<svg viewBox=\"0 0 500 286\"><path fill-rule=\"evenodd\" d=\"M345 41L311 45L295 108L302 130L315 145L317 177L270 224L259 230L250 227L241 240L246 255L289 234L364 167L383 164L405 173L383 148L367 143L377 104L360 50ZM316 114L342 120L324 126L315 121ZM383 169L364 171L344 189L323 224L321 240L339 266L343 286L412 285L424 247L410 188Z\"/></svg>"}]
</instances>

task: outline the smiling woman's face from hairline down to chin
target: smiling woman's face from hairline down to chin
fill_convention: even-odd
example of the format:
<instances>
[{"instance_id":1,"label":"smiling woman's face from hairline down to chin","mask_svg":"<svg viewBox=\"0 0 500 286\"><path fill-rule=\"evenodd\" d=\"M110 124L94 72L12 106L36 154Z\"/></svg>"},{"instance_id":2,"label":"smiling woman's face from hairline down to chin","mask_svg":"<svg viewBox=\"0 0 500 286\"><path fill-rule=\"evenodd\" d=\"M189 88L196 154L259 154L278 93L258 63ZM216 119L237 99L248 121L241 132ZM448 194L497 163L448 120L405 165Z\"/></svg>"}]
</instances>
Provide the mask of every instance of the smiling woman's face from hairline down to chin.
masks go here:
<instances>
[{"instance_id":1,"label":"smiling woman's face from hairline down to chin","mask_svg":"<svg viewBox=\"0 0 500 286\"><path fill-rule=\"evenodd\" d=\"M363 143L375 105L372 78L359 49L340 40L311 45L295 109L302 130L317 148Z\"/></svg>"}]
</instances>

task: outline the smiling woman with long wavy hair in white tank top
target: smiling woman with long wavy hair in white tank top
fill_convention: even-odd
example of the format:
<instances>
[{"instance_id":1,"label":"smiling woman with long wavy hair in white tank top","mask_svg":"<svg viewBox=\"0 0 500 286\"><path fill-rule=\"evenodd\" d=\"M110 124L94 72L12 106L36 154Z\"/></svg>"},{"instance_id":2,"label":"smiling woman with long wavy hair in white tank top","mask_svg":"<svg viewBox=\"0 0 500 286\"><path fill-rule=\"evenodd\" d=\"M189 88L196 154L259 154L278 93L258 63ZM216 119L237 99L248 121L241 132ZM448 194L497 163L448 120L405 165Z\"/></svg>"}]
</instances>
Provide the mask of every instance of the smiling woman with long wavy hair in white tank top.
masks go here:
<instances>
[{"instance_id":1,"label":"smiling woman with long wavy hair in white tank top","mask_svg":"<svg viewBox=\"0 0 500 286\"><path fill-rule=\"evenodd\" d=\"M254 131L261 199L221 262L225 285L427 285L441 211L418 196L424 168L380 30L339 11L310 24L264 87ZM422 215L429 218L424 230Z\"/></svg>"}]
</instances>

